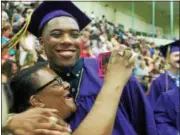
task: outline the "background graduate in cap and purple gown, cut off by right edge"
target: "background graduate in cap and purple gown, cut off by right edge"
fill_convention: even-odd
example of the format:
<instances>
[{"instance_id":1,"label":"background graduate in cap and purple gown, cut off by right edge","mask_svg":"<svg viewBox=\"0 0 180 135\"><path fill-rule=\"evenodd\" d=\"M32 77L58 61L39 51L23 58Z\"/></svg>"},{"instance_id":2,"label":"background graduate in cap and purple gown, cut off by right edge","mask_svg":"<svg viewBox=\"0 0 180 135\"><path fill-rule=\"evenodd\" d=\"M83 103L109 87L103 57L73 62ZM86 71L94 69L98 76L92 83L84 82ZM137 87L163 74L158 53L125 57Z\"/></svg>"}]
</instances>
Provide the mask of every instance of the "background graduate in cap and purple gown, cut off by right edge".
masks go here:
<instances>
[{"instance_id":1,"label":"background graduate in cap and purple gown, cut off by right edge","mask_svg":"<svg viewBox=\"0 0 180 135\"><path fill-rule=\"evenodd\" d=\"M148 98L152 108L156 107L159 96L168 90L179 88L180 70L180 40L160 47L163 57L169 64L169 69L157 77L151 84Z\"/></svg>"}]
</instances>

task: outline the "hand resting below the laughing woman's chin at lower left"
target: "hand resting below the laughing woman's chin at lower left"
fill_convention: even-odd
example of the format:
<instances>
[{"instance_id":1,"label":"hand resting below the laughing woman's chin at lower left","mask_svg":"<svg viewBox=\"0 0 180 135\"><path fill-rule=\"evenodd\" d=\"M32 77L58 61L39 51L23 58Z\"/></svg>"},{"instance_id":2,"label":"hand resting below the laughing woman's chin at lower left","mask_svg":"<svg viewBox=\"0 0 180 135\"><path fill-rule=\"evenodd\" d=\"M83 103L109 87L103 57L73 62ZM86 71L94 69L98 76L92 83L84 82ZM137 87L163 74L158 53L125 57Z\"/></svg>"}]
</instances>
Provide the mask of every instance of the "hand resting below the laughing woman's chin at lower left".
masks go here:
<instances>
[{"instance_id":1,"label":"hand resting below the laughing woman's chin at lower left","mask_svg":"<svg viewBox=\"0 0 180 135\"><path fill-rule=\"evenodd\" d=\"M50 117L58 111L47 108L32 108L23 113L15 114L7 128L15 135L62 135L71 132L70 126L62 119L55 122Z\"/></svg>"}]
</instances>

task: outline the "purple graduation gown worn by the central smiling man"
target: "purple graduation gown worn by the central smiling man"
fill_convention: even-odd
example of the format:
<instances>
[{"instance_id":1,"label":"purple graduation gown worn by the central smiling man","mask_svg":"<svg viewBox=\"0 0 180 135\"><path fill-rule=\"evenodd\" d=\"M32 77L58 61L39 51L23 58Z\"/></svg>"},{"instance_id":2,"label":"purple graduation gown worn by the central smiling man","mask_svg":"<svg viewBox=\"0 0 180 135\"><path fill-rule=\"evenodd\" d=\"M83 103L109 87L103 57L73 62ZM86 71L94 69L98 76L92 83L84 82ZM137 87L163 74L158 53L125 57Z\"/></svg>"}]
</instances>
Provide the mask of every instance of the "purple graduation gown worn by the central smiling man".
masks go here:
<instances>
[{"instance_id":1,"label":"purple graduation gown worn by the central smiling man","mask_svg":"<svg viewBox=\"0 0 180 135\"><path fill-rule=\"evenodd\" d=\"M80 91L76 100L78 108L70 119L73 131L91 110L103 86L103 79L98 76L96 59L84 59L83 67ZM112 135L156 135L156 132L149 101L139 83L132 76L123 90Z\"/></svg>"}]
</instances>

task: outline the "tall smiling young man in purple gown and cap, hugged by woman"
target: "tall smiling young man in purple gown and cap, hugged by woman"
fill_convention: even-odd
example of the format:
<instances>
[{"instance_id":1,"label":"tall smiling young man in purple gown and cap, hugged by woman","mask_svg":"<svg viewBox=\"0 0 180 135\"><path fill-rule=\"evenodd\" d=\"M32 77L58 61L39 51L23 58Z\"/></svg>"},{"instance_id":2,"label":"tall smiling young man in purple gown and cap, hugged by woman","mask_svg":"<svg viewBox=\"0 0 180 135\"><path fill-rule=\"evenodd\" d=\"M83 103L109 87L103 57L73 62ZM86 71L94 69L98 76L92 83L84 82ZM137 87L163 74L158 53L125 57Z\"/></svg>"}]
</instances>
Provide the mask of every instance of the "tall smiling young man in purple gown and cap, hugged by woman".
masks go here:
<instances>
[{"instance_id":1,"label":"tall smiling young man in purple gown and cap, hugged by woman","mask_svg":"<svg viewBox=\"0 0 180 135\"><path fill-rule=\"evenodd\" d=\"M67 3L69 2L43 2L33 12L28 30L40 39L50 68L71 84L70 90L77 104L77 111L68 122L74 131L91 110L104 80L98 76L96 59L80 58L79 31L90 20L79 9ZM63 18L67 22L59 24L64 21ZM79 30L71 30L77 25ZM112 135L156 135L152 108L134 76L130 77L123 89Z\"/></svg>"}]
</instances>

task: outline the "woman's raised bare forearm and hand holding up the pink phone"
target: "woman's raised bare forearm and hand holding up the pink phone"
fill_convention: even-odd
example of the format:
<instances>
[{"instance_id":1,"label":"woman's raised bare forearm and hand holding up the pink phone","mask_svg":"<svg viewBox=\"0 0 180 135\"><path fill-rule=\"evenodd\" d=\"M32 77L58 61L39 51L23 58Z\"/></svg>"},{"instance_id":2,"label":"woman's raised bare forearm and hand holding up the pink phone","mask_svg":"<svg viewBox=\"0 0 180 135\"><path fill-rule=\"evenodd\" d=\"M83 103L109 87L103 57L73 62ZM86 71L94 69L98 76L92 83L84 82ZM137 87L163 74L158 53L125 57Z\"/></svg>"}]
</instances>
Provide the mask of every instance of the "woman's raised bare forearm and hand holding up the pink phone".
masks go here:
<instances>
[{"instance_id":1,"label":"woman's raised bare forearm and hand holding up the pink phone","mask_svg":"<svg viewBox=\"0 0 180 135\"><path fill-rule=\"evenodd\" d=\"M122 90L127 83L135 56L121 48L112 52L104 85L86 118L73 135L111 135Z\"/></svg>"}]
</instances>

